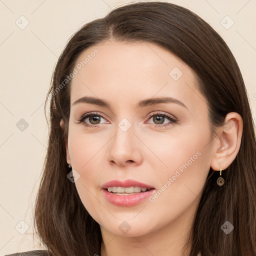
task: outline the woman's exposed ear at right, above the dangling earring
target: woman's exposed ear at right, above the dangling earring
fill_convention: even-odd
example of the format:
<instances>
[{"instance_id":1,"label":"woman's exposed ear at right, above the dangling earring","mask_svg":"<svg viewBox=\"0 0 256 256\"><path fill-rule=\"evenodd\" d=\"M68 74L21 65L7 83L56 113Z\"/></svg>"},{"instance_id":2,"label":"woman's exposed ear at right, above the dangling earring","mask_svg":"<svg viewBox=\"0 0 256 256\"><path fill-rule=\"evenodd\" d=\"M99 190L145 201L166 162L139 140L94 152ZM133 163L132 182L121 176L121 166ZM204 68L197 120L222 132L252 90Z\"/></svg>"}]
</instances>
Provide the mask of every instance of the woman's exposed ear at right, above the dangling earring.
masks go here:
<instances>
[{"instance_id":1,"label":"woman's exposed ear at right, above the dangling earring","mask_svg":"<svg viewBox=\"0 0 256 256\"><path fill-rule=\"evenodd\" d=\"M242 136L242 117L240 114L230 112L225 117L225 124L217 128L214 138L211 168L213 170L226 169L236 157Z\"/></svg>"}]
</instances>

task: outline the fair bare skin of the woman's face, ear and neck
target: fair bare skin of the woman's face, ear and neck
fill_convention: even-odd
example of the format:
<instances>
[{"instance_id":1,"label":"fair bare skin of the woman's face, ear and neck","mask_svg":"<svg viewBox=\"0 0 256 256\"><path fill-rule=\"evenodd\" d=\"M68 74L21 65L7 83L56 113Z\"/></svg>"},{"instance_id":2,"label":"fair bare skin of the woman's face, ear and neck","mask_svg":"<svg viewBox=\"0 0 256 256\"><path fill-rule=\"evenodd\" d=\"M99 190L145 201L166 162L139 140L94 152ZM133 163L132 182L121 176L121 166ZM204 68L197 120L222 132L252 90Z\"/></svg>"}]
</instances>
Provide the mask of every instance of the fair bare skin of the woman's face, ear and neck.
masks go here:
<instances>
[{"instance_id":1,"label":"fair bare skin of the woman's face, ear and neck","mask_svg":"<svg viewBox=\"0 0 256 256\"><path fill-rule=\"evenodd\" d=\"M216 128L212 139L206 99L188 65L153 43L112 40L87 48L76 64L95 48L98 53L71 82L65 142L67 163L80 175L75 182L78 194L100 225L101 255L181 256L209 168L224 171L238 152L242 118L228 113L229 128ZM182 71L177 80L169 75L174 67ZM110 108L72 105L85 95L108 101ZM186 107L177 103L136 107L139 100L156 96L171 96ZM78 123L81 115L91 111L104 116L99 124L89 118ZM173 115L177 122L165 117L167 125L159 127L157 111ZM155 117L148 118L150 113ZM123 118L131 124L127 131L118 127ZM98 126L88 127L85 122ZM130 178L152 185L156 192L198 151L200 156L153 202L145 199L135 206L117 206L100 189L109 180ZM118 228L123 221L130 226L126 233Z\"/></svg>"}]
</instances>

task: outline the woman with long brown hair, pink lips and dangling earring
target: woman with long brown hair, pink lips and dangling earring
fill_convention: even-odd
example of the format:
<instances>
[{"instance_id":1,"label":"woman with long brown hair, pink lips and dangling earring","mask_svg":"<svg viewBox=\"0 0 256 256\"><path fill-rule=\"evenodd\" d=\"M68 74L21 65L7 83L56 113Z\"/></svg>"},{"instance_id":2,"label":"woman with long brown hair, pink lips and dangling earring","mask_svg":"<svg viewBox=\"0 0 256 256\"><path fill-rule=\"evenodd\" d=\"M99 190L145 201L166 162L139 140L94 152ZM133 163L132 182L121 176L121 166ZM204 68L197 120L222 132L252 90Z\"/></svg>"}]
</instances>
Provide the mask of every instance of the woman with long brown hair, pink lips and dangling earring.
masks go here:
<instances>
[{"instance_id":1,"label":"woman with long brown hair, pink lips and dangling earring","mask_svg":"<svg viewBox=\"0 0 256 256\"><path fill-rule=\"evenodd\" d=\"M139 2L85 24L47 97L31 255L256 255L251 110L200 17Z\"/></svg>"}]
</instances>

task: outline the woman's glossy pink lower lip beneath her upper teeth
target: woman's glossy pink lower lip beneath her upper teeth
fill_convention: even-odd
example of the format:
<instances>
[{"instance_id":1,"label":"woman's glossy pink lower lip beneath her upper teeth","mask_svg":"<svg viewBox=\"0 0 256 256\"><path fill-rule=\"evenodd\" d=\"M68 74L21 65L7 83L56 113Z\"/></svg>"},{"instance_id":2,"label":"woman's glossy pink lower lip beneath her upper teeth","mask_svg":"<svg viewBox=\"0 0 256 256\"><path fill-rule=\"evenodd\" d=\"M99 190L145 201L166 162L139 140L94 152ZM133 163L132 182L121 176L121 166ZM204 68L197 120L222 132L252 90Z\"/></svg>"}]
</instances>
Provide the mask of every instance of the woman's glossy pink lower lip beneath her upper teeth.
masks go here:
<instances>
[{"instance_id":1,"label":"woman's glossy pink lower lip beneath her upper teeth","mask_svg":"<svg viewBox=\"0 0 256 256\"><path fill-rule=\"evenodd\" d=\"M155 189L150 189L145 192L135 193L135 194L113 194L108 192L106 189L102 189L106 199L112 204L118 206L133 206L139 204L142 200L149 197Z\"/></svg>"}]
</instances>

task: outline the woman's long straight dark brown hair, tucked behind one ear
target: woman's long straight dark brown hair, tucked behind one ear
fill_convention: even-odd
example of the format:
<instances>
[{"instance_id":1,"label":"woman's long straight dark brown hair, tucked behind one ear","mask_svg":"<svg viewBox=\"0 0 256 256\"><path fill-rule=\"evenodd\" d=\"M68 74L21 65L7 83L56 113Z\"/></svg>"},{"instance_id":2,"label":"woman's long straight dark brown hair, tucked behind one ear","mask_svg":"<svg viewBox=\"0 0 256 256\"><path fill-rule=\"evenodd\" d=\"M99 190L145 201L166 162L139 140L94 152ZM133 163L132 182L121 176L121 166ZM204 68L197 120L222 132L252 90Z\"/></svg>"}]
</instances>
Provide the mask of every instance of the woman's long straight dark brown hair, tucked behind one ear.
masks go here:
<instances>
[{"instance_id":1,"label":"woman's long straight dark brown hair, tucked behind one ear","mask_svg":"<svg viewBox=\"0 0 256 256\"><path fill-rule=\"evenodd\" d=\"M99 225L84 208L74 183L66 177L70 170L64 139L68 134L71 80L63 81L84 49L110 38L156 43L188 64L206 98L213 131L224 124L228 112L241 115L241 145L223 173L225 184L216 185L219 172L209 170L190 232L189 256L197 255L199 250L202 256L256 255L256 142L241 72L224 40L207 22L168 2L126 4L85 24L69 39L56 63L47 93L47 155L34 212L36 233L48 252L54 256L100 255ZM61 118L64 130L59 125ZM226 220L234 226L229 234L220 228Z\"/></svg>"}]
</instances>

